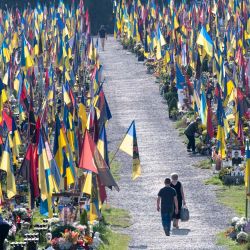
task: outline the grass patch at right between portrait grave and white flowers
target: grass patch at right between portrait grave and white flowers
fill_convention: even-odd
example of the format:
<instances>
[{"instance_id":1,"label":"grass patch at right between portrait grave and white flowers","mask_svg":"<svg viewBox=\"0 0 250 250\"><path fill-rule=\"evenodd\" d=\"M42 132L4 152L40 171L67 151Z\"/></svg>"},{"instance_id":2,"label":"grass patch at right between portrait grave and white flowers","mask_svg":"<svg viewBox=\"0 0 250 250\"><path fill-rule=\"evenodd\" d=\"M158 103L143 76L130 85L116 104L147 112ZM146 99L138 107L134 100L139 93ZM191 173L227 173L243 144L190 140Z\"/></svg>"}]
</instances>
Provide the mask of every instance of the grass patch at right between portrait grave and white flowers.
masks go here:
<instances>
[{"instance_id":1,"label":"grass patch at right between portrait grave and white flowers","mask_svg":"<svg viewBox=\"0 0 250 250\"><path fill-rule=\"evenodd\" d=\"M245 216L245 186L223 186L216 194L221 204L232 208L239 216Z\"/></svg>"}]
</instances>

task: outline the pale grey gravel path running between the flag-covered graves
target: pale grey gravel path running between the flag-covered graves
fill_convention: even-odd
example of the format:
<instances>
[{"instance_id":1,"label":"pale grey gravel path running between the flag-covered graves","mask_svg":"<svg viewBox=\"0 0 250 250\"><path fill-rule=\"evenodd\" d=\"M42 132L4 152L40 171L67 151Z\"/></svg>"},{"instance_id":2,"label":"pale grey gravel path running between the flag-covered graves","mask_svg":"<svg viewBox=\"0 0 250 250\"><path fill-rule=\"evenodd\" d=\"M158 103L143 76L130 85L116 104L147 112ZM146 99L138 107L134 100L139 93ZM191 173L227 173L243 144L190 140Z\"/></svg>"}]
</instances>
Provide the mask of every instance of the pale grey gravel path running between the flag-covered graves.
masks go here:
<instances>
[{"instance_id":1,"label":"pale grey gravel path running between the flag-covered graves","mask_svg":"<svg viewBox=\"0 0 250 250\"><path fill-rule=\"evenodd\" d=\"M132 238L129 249L223 249L215 245L215 235L226 228L231 213L216 203L215 188L203 184L209 171L192 167L201 158L187 154L168 119L155 78L146 74L145 66L113 38L108 39L100 55L113 115L107 130L110 151L116 149L131 121L136 121L142 176L131 180L132 160L120 152L121 191L109 194L112 206L131 213L133 225L125 230ZM191 218L166 237L156 211L156 197L171 172L179 173Z\"/></svg>"}]
</instances>

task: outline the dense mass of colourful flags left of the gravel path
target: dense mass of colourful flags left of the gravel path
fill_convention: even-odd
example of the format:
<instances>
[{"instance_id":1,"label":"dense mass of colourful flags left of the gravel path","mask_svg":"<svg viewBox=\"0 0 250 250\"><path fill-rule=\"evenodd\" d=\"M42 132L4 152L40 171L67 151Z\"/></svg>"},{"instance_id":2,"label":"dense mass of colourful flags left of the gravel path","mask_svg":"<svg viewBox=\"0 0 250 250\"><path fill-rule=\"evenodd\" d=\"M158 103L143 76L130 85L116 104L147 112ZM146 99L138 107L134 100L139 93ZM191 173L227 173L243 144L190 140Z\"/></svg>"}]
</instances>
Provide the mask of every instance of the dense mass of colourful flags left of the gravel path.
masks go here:
<instances>
[{"instance_id":1,"label":"dense mass of colourful flags left of the gravel path","mask_svg":"<svg viewBox=\"0 0 250 250\"><path fill-rule=\"evenodd\" d=\"M30 205L40 198L41 214L52 216L53 194L80 190L90 197L90 221L98 219L106 187L119 187L108 157L112 115L98 41L90 36L83 1L0 10L0 47L1 203L3 193L14 198L26 180ZM141 172L134 122L121 149L133 157L136 179Z\"/></svg>"}]
</instances>

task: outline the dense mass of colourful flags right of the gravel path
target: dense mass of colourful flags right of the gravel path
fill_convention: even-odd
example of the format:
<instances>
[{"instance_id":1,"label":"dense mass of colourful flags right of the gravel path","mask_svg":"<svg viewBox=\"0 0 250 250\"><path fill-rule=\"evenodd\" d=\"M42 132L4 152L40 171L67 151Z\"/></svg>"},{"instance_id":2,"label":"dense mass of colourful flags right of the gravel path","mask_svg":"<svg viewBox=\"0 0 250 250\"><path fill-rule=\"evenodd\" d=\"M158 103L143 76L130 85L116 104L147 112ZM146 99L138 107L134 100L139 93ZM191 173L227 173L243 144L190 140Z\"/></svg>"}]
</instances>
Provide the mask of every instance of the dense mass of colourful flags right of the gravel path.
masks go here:
<instances>
[{"instance_id":1,"label":"dense mass of colourful flags right of the gravel path","mask_svg":"<svg viewBox=\"0 0 250 250\"><path fill-rule=\"evenodd\" d=\"M170 76L178 91L188 93L209 138L216 136L221 157L226 157L230 124L244 144L250 93L248 1L119 0L114 6L115 37L141 43L145 57L160 62L161 72ZM204 65L213 79L203 76ZM211 99L217 105L215 118Z\"/></svg>"}]
</instances>

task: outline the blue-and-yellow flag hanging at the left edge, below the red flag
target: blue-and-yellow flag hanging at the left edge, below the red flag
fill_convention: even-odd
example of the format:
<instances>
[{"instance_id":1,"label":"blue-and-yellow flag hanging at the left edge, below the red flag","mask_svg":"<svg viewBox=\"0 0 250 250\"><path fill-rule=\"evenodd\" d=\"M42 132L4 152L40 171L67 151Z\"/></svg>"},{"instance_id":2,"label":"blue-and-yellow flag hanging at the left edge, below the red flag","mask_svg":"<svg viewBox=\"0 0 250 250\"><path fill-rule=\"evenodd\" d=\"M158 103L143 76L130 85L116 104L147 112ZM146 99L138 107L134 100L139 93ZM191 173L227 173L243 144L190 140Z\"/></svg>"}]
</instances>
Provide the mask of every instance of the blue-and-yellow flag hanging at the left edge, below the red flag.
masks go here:
<instances>
[{"instance_id":1,"label":"blue-and-yellow flag hanging at the left edge, below the red flag","mask_svg":"<svg viewBox=\"0 0 250 250\"><path fill-rule=\"evenodd\" d=\"M16 190L16 180L15 180L15 175L14 175L14 169L13 169L12 159L11 159L9 136L7 136L6 141L5 141L0 169L5 171L7 174L7 179L6 179L7 197L11 199L17 194L17 190Z\"/></svg>"}]
</instances>

